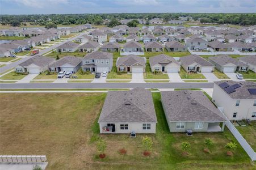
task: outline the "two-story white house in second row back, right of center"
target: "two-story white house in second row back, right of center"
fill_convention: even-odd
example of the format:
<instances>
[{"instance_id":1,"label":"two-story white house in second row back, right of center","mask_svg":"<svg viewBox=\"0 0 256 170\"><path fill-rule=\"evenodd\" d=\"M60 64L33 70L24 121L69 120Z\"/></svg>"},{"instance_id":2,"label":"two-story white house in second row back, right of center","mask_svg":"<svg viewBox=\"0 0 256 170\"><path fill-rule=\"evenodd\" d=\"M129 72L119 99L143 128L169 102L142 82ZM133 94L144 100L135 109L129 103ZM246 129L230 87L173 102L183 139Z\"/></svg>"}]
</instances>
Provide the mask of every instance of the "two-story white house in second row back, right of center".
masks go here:
<instances>
[{"instance_id":1,"label":"two-story white house in second row back, right of center","mask_svg":"<svg viewBox=\"0 0 256 170\"><path fill-rule=\"evenodd\" d=\"M188 39L186 42L186 47L191 50L207 50L208 41L204 39Z\"/></svg>"}]
</instances>

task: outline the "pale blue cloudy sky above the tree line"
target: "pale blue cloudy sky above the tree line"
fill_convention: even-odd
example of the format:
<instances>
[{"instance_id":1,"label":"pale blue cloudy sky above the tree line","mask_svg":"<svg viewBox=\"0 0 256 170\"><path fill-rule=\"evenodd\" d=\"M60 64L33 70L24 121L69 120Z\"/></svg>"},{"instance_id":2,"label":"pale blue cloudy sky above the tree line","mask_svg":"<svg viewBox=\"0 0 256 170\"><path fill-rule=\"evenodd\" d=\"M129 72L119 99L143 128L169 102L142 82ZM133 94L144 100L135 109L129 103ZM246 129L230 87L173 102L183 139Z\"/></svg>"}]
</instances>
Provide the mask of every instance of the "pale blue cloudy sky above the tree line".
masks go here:
<instances>
[{"instance_id":1,"label":"pale blue cloudy sky above the tree line","mask_svg":"<svg viewBox=\"0 0 256 170\"><path fill-rule=\"evenodd\" d=\"M0 14L256 12L256 0L0 0Z\"/></svg>"}]
</instances>

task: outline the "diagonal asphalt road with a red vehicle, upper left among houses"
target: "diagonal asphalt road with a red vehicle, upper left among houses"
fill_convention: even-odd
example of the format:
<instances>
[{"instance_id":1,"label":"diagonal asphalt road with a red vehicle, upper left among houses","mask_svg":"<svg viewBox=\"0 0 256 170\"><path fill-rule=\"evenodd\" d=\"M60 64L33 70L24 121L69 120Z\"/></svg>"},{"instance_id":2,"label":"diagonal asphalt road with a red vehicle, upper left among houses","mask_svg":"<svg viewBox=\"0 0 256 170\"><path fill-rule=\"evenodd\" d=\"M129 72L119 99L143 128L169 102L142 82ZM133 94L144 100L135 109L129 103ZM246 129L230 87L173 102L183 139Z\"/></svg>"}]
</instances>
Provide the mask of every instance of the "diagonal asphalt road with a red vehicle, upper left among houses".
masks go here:
<instances>
[{"instance_id":1,"label":"diagonal asphalt road with a red vehicle, upper left among houses","mask_svg":"<svg viewBox=\"0 0 256 170\"><path fill-rule=\"evenodd\" d=\"M37 54L37 55L42 55L42 54L44 54L44 53L50 52L51 50L56 49L58 46L64 44L65 42L67 42L67 41L73 41L73 40L77 39L77 37L79 37L79 36L81 36L81 35L84 35L84 34L86 34L86 33L87 33L87 32L80 33L79 35L77 35L77 36L75 36L75 37L73 37L73 38L71 38L71 39L68 39L68 40L65 40L65 41L63 41L63 42L60 42L60 43L58 43L58 44L56 44L56 45L50 46L50 47L47 48L47 49L40 50L40 53ZM3 67L0 68L0 73L5 72L6 70L12 69L13 67L18 66L20 63L22 63L22 62L24 62L24 61L27 61L27 59L30 59L30 58L32 58L32 57L34 57L34 56L24 57L24 58L22 58L22 59L20 59L20 60L18 60L18 61L16 61L16 62L10 63L9 65L3 66Z\"/></svg>"}]
</instances>

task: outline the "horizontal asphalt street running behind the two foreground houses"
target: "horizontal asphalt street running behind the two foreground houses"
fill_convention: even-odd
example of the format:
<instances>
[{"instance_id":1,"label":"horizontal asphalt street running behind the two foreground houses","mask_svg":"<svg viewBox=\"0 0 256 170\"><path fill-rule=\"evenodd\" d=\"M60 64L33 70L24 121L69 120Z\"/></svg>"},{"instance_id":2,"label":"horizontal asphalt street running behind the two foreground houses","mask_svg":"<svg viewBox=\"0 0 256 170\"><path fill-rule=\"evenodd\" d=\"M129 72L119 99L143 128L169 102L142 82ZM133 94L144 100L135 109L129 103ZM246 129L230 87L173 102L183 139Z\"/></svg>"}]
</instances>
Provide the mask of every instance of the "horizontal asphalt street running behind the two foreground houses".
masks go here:
<instances>
[{"instance_id":1,"label":"horizontal asphalt street running behind the two foreground houses","mask_svg":"<svg viewBox=\"0 0 256 170\"><path fill-rule=\"evenodd\" d=\"M1 83L0 89L213 88L213 83Z\"/></svg>"}]
</instances>

